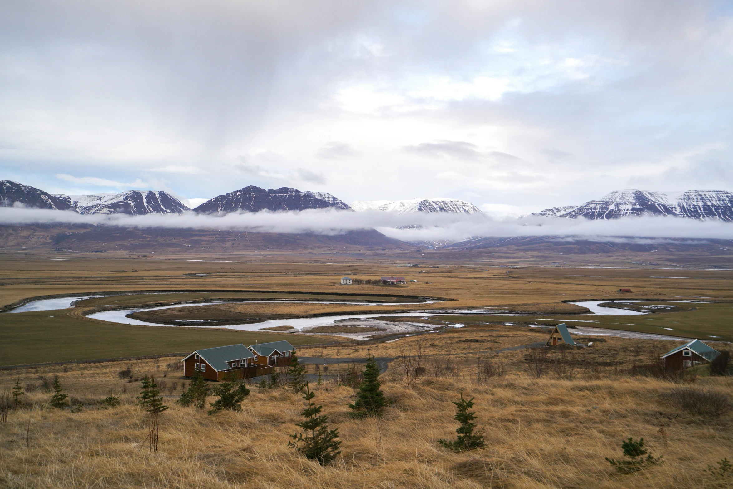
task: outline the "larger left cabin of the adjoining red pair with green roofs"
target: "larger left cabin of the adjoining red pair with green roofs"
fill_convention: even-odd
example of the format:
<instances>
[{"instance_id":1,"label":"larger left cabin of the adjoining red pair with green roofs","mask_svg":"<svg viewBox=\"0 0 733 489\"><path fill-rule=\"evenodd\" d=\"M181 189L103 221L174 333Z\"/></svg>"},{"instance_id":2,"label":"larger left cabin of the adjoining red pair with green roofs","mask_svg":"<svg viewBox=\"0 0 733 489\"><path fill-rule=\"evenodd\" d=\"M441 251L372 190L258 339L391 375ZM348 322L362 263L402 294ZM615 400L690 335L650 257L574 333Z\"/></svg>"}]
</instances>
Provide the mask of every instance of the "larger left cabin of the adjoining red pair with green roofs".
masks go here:
<instances>
[{"instance_id":1,"label":"larger left cabin of the adjoining red pair with green roofs","mask_svg":"<svg viewBox=\"0 0 733 489\"><path fill-rule=\"evenodd\" d=\"M237 378L254 377L257 366L252 363L253 358L254 354L240 343L196 350L181 361L183 375L186 377L200 373L207 380L221 380L227 375L235 375Z\"/></svg>"}]
</instances>

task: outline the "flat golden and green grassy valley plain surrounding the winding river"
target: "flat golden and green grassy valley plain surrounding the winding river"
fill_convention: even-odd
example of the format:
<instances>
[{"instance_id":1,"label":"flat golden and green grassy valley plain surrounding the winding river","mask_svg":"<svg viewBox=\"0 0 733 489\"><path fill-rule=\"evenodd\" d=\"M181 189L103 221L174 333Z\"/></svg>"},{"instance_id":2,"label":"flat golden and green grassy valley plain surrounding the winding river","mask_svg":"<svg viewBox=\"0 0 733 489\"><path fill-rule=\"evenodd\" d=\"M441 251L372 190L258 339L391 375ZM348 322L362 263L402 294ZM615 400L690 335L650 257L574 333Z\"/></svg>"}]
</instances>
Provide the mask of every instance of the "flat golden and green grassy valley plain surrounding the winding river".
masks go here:
<instances>
[{"instance_id":1,"label":"flat golden and green grassy valley plain surrounding the winding river","mask_svg":"<svg viewBox=\"0 0 733 489\"><path fill-rule=\"evenodd\" d=\"M608 258L608 265L613 260L616 259ZM415 261L414 257L411 261ZM430 252L426 252L420 261L424 266L405 268L397 266L400 263L399 257L380 257L378 254L130 257L122 254L54 254L40 251L28 254L3 253L0 254L0 305L12 304L29 297L62 293L140 290L189 292L93 298L67 312L1 314L0 364L174 353L223 342L245 341L249 337L243 335L248 334L237 331L120 326L92 320L82 314L82 306L134 306L174 300L234 298L243 296L242 293L235 292L241 290L262 291L259 297L284 297L276 294L281 292L300 293L292 295L298 298L317 297L316 294L323 297L323 294L336 293L356 294L357 298L375 298L374 295L378 295L382 296L382 300L390 295L422 295L450 298L452 301L414 306L400 305L399 301L404 301L405 298L390 298L388 300L391 304L380 306L378 310L399 312L412 309L489 307L535 315L563 314L553 317L557 320L597 321L577 323L583 326L733 339L729 322L730 306L733 304L691 304L697 309L649 317L612 315L586 318L568 315L582 312L583 309L563 302L612 298L660 301L699 301L704 298L702 300L733 301L733 271L679 268L671 271L659 267L610 266L556 268L542 265L497 268L496 261L451 262L441 257L431 257ZM428 265L438 268L428 268ZM397 275L418 282L410 282L401 287L339 284L339 279L345 275L364 279ZM633 292L620 294L616 292L620 287L630 287ZM345 304L273 304L271 308L259 309L257 313L321 314L361 312L365 309L374 312L372 307ZM288 312L289 308L297 310ZM307 308L307 311L303 308ZM451 320L450 317L447 319ZM517 317L490 316L475 319L512 321L517 320ZM548 317L533 316L531 319L544 321ZM460 320L466 318L460 317ZM275 337L274 333L267 334ZM287 334L287 338L292 342L303 343L323 341L294 334Z\"/></svg>"}]
</instances>

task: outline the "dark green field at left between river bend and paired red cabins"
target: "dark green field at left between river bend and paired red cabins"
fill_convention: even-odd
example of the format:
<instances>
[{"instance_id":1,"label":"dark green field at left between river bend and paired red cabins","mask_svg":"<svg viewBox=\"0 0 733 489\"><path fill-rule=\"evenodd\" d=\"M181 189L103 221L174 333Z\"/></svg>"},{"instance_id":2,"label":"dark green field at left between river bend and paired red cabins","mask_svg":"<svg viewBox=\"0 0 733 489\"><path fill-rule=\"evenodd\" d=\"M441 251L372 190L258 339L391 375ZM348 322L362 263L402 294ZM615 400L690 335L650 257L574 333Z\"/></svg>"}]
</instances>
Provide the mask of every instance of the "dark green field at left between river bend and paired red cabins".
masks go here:
<instances>
[{"instance_id":1,"label":"dark green field at left between river bend and paired red cabins","mask_svg":"<svg viewBox=\"0 0 733 489\"><path fill-rule=\"evenodd\" d=\"M0 314L0 366L156 355L279 339L293 345L323 342L294 334L116 325L70 317L68 311Z\"/></svg>"}]
</instances>

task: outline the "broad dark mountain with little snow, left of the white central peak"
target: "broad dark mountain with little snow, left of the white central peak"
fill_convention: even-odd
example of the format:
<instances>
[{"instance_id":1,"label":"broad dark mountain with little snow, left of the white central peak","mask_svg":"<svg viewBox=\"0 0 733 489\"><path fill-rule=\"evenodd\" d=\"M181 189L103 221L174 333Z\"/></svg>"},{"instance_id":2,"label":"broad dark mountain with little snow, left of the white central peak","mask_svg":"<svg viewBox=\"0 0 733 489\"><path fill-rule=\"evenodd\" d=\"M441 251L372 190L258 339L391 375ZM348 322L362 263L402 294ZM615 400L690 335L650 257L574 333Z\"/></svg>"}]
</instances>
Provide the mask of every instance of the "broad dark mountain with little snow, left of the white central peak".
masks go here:
<instances>
[{"instance_id":1,"label":"broad dark mountain with little snow, left of the white central peak","mask_svg":"<svg viewBox=\"0 0 733 489\"><path fill-rule=\"evenodd\" d=\"M320 199L316 192L301 192L297 188L264 188L248 185L229 194L221 194L207 200L194 209L196 213L226 214L237 211L259 212L260 210L306 210L345 205L336 197L325 194L328 200ZM346 206L348 207L348 206Z\"/></svg>"}]
</instances>

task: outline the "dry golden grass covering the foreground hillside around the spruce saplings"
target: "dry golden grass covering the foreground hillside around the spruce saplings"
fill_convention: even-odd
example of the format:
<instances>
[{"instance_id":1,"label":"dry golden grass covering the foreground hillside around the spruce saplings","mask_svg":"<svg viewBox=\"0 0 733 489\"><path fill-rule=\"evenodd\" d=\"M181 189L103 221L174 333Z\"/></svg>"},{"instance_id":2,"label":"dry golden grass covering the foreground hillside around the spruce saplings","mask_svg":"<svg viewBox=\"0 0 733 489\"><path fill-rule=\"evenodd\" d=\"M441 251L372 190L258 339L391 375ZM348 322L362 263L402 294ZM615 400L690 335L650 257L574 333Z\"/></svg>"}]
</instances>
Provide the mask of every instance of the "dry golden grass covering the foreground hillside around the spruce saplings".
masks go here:
<instances>
[{"instance_id":1,"label":"dry golden grass covering the foreground hillside around the spruce saplings","mask_svg":"<svg viewBox=\"0 0 733 489\"><path fill-rule=\"evenodd\" d=\"M475 332L474 332L475 333ZM520 339L521 332L513 341ZM465 337L475 337L468 334ZM507 336L511 336L507 333ZM402 339L405 345L416 339ZM507 343L512 340L507 339ZM398 342L399 343L399 342ZM395 344L389 344L395 345ZM461 344L463 345L463 344ZM414 346L414 345L413 345ZM609 339L588 353L598 361L622 364L644 357L662 342ZM381 347L380 347L381 348ZM591 351L592 350L592 351ZM335 353L335 349L325 349ZM305 352L301 350L301 355ZM339 353L345 353L341 348ZM380 354L383 352L380 352ZM427 348L426 353L434 353ZM34 406L12 411L0 426L0 485L8 488L681 488L716 485L704 469L732 457L730 414L720 419L690 416L671 407L663 394L676 385L654 378L633 378L622 368L579 372L574 380L530 378L523 352L493 356L507 374L476 383L473 356L458 356L451 377L425 376L405 386L394 365L382 375L394 400L380 419L353 420L347 404L353 390L327 381L313 386L315 400L341 434L343 455L331 466L299 457L287 447L298 430L303 401L286 389L252 393L241 413L207 416L174 403L180 372L168 372L175 359L79 364L0 372L0 389L20 376L40 385L40 377L59 375L79 413L45 406L50 393L28 394ZM135 405L139 382L120 379L130 366L133 377L157 375L166 381L169 411L161 415L161 448L151 454L143 413ZM335 368L335 367L334 367ZM699 378L733 395L730 378ZM454 436L452 420L460 392L475 397L487 447L460 454L441 449L439 438ZM119 408L100 409L108 394L120 394ZM212 398L213 400L213 398ZM31 420L29 448L26 422ZM664 428L660 432L660 428ZM634 475L616 474L604 457L619 457L622 438L644 437L666 463Z\"/></svg>"}]
</instances>

